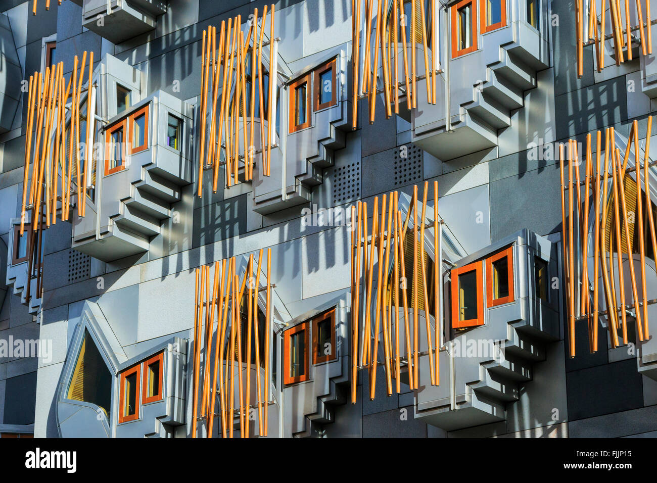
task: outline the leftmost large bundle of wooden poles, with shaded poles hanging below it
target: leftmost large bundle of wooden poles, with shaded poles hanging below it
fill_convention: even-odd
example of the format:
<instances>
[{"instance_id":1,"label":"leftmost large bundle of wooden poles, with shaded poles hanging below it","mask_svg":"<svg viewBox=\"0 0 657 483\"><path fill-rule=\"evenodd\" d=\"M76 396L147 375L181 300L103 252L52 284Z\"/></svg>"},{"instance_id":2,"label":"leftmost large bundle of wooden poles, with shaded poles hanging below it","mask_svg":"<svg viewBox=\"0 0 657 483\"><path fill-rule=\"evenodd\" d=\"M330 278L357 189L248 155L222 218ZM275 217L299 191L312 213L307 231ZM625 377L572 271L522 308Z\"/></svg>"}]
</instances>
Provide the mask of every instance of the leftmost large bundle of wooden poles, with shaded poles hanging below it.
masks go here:
<instances>
[{"instance_id":1,"label":"leftmost large bundle of wooden poles, with shaded poles hanging below it","mask_svg":"<svg viewBox=\"0 0 657 483\"><path fill-rule=\"evenodd\" d=\"M86 179L89 170L89 156L85 156L82 174L79 159L80 113L79 99L82 94L83 78L87 52L82 55L81 65L78 57L74 58L73 72L66 85L64 80L64 62L45 68L45 73L34 72L30 76L28 91L28 118L25 137L25 160L23 174L23 196L20 218L20 236L24 235L28 212L31 214L30 225L33 236L28 246L28 301L30 297L30 280L37 279L37 293L41 293L41 242L44 229L51 223L57 223L58 204L62 220L70 219L71 180L79 185L79 179ZM79 66L79 69L78 69ZM93 74L93 52L89 54L88 89L91 99L91 76ZM79 72L79 76L78 76ZM70 116L66 118L66 104L72 96L69 108ZM93 133L93 120L89 125L87 116L87 133ZM68 139L68 144L67 144ZM33 142L34 141L34 142ZM30 177L30 164L32 175ZM28 182L29 178L29 182ZM61 178L61 187L58 179ZM84 216L85 203L83 188L73 189L78 195L78 215Z\"/></svg>"}]
</instances>

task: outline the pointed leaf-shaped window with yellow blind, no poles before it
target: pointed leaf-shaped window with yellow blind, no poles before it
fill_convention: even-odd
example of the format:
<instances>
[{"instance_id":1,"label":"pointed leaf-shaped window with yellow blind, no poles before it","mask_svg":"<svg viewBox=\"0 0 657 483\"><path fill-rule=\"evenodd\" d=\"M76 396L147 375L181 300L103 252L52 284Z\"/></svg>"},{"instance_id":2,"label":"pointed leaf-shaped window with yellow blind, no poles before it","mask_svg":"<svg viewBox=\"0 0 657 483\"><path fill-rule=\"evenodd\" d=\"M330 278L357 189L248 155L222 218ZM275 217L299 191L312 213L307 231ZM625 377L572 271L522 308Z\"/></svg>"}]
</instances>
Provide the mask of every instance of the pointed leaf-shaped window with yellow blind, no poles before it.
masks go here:
<instances>
[{"instance_id":1,"label":"pointed leaf-shaped window with yellow blind, no poles before it","mask_svg":"<svg viewBox=\"0 0 657 483\"><path fill-rule=\"evenodd\" d=\"M112 374L88 332L82 340L66 398L95 404L106 415L110 410Z\"/></svg>"}]
</instances>

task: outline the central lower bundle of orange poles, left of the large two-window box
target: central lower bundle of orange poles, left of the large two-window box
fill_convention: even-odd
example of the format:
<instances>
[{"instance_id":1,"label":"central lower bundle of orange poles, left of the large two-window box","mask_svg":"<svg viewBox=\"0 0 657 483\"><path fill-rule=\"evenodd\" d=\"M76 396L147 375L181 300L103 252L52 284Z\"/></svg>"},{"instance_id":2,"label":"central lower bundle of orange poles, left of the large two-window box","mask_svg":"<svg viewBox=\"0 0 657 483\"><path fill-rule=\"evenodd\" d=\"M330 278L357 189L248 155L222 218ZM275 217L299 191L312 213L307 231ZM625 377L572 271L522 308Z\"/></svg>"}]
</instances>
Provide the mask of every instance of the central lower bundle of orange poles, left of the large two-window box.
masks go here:
<instances>
[{"instance_id":1,"label":"central lower bundle of orange poles, left of the large two-window box","mask_svg":"<svg viewBox=\"0 0 657 483\"><path fill-rule=\"evenodd\" d=\"M367 202L358 202L351 206L351 223L355 230L351 231L351 402L356 402L357 371L369 369L370 399L374 399L376 389L376 368L382 364L386 374L386 390L392 395L392 378L396 380L396 392L401 391L401 365L407 366L409 386L411 389L419 386L418 369L419 356L429 357L431 384L440 382L439 351L442 340L442 315L440 310L440 283L442 281L442 262L440 260L440 221L438 219L438 181L434 181L434 221L426 223L426 199L429 187L424 183L422 206L418 204L417 185L413 187L411 206L404 217L398 210L399 194L397 191L387 197L382 196L380 205L378 196L374 198L371 231L368 229ZM387 210L387 212L386 212ZM408 233L412 222L413 233ZM424 257L424 231L434 229L434 306L429 307L427 293L427 267ZM371 235L370 235L371 234ZM406 279L406 264L404 256L404 241L413 237L413 285L409 301L406 288L411 286ZM418 238L419 237L419 238ZM388 279L388 266L392 260L392 277ZM376 267L374 262L376 261ZM376 271L376 279L374 279ZM420 278L421 277L421 278ZM390 283L390 287L388 286ZM363 292L361 294L361 285ZM419 307L420 286L424 289L424 306ZM401 290L399 288L401 287ZM403 327L400 323L399 292L403 301ZM394 297L394 304L393 304ZM409 304L412 304L413 319L409 317ZM374 306L374 311L372 308ZM419 311L424 311L426 325L427 352L420 353L419 344ZM433 310L433 314L431 313ZM393 315L394 313L394 315ZM430 315L434 316L434 341L430 327ZM400 337L400 331L403 334ZM383 340L380 341L379 333ZM359 337L363 340L359 343ZM412 335L411 335L412 334ZM405 344L400 344L400 340ZM378 360L379 344L382 342L384 360ZM401 346L405 345L405 349ZM404 354L405 350L405 354ZM435 360L434 360L435 354Z\"/></svg>"}]
</instances>

